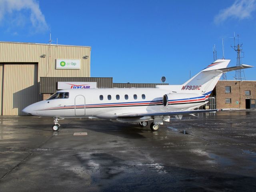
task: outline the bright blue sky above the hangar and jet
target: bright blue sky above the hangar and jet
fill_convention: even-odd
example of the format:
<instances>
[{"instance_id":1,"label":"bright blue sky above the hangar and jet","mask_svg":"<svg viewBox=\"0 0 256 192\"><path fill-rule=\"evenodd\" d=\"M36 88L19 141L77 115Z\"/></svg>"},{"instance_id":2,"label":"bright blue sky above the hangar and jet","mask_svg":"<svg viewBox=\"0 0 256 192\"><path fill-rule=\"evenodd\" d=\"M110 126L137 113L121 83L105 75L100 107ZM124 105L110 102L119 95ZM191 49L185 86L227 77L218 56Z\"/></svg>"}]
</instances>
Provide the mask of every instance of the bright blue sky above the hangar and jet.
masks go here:
<instances>
[{"instance_id":1,"label":"bright blue sky above the hangar and jet","mask_svg":"<svg viewBox=\"0 0 256 192\"><path fill-rule=\"evenodd\" d=\"M0 0L0 41L91 46L91 76L182 84L218 58L256 66L256 0ZM245 70L256 80L256 68ZM227 74L233 80L234 72Z\"/></svg>"}]
</instances>

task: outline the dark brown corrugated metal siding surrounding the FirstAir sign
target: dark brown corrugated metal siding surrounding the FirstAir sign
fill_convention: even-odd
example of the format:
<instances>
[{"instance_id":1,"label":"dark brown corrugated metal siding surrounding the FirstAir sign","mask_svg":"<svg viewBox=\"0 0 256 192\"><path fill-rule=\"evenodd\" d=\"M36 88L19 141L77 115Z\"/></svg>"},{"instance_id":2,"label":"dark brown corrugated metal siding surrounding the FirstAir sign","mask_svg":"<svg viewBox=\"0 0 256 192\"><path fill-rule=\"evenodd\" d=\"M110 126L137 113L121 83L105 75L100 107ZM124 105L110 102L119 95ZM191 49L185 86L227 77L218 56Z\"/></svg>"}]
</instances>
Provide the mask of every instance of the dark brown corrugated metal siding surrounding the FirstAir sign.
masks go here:
<instances>
[{"instance_id":1,"label":"dark brown corrugated metal siding surrounding the FirstAir sign","mask_svg":"<svg viewBox=\"0 0 256 192\"><path fill-rule=\"evenodd\" d=\"M40 93L56 92L57 82L97 82L98 88L112 88L112 77L40 77Z\"/></svg>"}]
</instances>

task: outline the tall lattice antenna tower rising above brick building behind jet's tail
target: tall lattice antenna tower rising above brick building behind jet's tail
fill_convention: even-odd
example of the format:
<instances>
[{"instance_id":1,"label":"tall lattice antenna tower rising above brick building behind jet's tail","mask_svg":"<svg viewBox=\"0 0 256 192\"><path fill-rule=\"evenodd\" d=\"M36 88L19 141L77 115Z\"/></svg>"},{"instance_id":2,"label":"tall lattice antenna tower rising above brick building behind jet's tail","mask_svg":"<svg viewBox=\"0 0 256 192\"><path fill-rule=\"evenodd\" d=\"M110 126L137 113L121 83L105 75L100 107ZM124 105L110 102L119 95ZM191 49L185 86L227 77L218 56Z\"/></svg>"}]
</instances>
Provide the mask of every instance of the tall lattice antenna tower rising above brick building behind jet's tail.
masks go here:
<instances>
[{"instance_id":1,"label":"tall lattice antenna tower rising above brick building behind jet's tail","mask_svg":"<svg viewBox=\"0 0 256 192\"><path fill-rule=\"evenodd\" d=\"M237 45L236 45L236 38L237 38ZM239 35L235 37L234 34L234 46L231 46L237 53L236 56L236 66L240 66L242 64L242 58L244 58L244 52L242 51L243 44L239 44ZM242 56L241 56L242 55ZM235 79L237 81L245 80L244 70L236 70Z\"/></svg>"}]
</instances>

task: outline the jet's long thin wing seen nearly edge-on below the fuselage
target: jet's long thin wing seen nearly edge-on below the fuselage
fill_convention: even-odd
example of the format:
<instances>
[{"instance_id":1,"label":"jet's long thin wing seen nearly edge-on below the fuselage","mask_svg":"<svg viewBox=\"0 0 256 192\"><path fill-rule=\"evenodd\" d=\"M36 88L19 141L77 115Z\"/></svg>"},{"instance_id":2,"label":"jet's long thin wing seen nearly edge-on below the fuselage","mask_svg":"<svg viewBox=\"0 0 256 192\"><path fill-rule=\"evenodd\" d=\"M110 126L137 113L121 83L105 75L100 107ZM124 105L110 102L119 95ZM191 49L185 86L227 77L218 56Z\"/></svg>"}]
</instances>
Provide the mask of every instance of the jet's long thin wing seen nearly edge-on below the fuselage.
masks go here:
<instances>
[{"instance_id":1,"label":"jet's long thin wing seen nearly edge-on below the fuselage","mask_svg":"<svg viewBox=\"0 0 256 192\"><path fill-rule=\"evenodd\" d=\"M120 114L118 118L142 118L142 117L152 117L152 116L176 116L176 115L184 115L184 114L193 114L193 113L207 113L207 112L215 112L215 111L223 111L230 109L208 109L208 110L190 110L190 111L176 111L176 112L152 112L152 113L128 113L128 114Z\"/></svg>"}]
</instances>

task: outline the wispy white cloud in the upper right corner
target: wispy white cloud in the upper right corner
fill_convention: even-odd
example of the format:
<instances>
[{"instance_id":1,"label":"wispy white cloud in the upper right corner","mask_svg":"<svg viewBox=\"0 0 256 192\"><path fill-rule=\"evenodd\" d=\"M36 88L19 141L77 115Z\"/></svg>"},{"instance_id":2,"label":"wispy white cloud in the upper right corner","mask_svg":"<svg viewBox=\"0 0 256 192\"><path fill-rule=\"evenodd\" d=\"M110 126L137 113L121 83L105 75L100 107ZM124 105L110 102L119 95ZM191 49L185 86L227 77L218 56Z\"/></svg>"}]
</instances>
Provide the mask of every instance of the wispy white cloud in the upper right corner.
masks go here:
<instances>
[{"instance_id":1,"label":"wispy white cloud in the upper right corner","mask_svg":"<svg viewBox=\"0 0 256 192\"><path fill-rule=\"evenodd\" d=\"M219 24L228 18L243 20L251 17L251 13L256 9L256 0L236 0L230 7L220 10L214 17L214 23Z\"/></svg>"}]
</instances>

